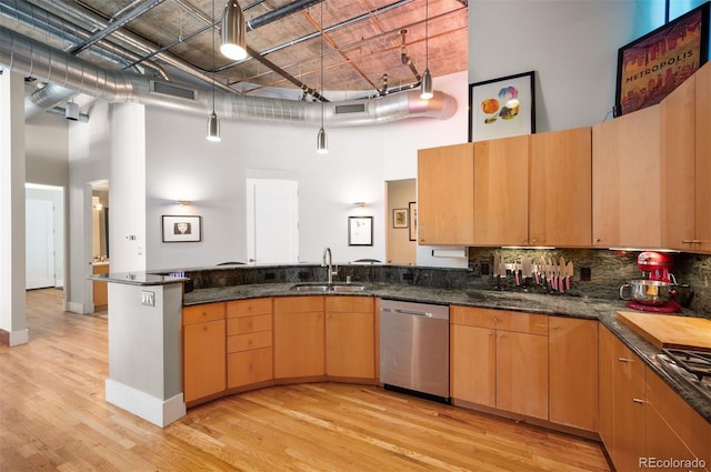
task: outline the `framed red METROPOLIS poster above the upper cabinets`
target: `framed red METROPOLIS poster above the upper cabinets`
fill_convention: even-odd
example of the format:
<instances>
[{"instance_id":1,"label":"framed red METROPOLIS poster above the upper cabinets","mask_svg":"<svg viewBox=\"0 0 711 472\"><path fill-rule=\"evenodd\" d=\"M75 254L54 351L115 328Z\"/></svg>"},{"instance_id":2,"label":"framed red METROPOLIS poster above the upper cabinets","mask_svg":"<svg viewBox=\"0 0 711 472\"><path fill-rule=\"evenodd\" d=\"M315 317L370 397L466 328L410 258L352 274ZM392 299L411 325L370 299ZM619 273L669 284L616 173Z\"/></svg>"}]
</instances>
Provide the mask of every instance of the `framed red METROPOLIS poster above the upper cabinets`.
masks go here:
<instances>
[{"instance_id":1,"label":"framed red METROPOLIS poster above the upper cabinets","mask_svg":"<svg viewBox=\"0 0 711 472\"><path fill-rule=\"evenodd\" d=\"M618 50L614 116L662 101L709 57L709 2Z\"/></svg>"}]
</instances>

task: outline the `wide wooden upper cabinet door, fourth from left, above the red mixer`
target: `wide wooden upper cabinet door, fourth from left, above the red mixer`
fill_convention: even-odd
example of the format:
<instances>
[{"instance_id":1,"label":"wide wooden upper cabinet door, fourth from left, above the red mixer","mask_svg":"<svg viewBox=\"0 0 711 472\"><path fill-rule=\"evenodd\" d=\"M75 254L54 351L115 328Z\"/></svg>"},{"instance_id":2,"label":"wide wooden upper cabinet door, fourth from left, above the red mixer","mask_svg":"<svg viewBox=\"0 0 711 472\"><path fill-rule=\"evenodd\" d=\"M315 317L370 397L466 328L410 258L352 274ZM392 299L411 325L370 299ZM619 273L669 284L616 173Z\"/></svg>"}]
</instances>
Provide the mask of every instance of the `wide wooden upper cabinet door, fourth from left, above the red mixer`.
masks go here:
<instances>
[{"instance_id":1,"label":"wide wooden upper cabinet door, fourth from left, above the red mixer","mask_svg":"<svg viewBox=\"0 0 711 472\"><path fill-rule=\"evenodd\" d=\"M592 243L660 248L660 108L592 127Z\"/></svg>"}]
</instances>

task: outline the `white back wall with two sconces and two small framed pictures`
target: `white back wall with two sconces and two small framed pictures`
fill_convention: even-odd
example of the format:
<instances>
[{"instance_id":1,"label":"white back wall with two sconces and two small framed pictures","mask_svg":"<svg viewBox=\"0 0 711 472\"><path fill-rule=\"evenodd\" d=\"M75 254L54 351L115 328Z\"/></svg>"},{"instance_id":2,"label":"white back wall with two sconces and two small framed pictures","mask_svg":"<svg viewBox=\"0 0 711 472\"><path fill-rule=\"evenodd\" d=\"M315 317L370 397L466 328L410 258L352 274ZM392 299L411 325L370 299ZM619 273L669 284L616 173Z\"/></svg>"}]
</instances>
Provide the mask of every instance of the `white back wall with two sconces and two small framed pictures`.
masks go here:
<instances>
[{"instance_id":1,"label":"white back wall with two sconces and two small framed pictures","mask_svg":"<svg viewBox=\"0 0 711 472\"><path fill-rule=\"evenodd\" d=\"M384 181L414 178L417 150L467 140L464 72L437 79L454 96L449 120L410 119L377 127L329 128L329 153L316 153L317 127L221 122L222 141L204 139L204 117L147 110L147 265L171 269L246 261L248 174L292 175L299 182L300 259L385 259ZM179 207L176 200L189 200ZM367 202L363 209L353 202ZM200 214L199 243L162 243L162 214ZM373 247L348 245L348 217L373 215Z\"/></svg>"}]
</instances>

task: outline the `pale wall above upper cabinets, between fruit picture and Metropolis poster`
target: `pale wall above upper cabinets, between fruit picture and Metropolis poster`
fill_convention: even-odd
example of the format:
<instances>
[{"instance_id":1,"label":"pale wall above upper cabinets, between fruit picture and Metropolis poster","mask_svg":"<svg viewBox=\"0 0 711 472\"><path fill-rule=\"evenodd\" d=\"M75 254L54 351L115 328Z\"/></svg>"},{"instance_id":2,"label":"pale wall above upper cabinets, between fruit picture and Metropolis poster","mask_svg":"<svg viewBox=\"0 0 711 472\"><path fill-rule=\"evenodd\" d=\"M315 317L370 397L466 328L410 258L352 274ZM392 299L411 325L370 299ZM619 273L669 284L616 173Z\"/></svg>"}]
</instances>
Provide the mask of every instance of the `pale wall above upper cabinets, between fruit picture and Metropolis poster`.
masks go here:
<instances>
[{"instance_id":1,"label":"pale wall above upper cabinets, between fruit picture and Metropolis poster","mask_svg":"<svg viewBox=\"0 0 711 472\"><path fill-rule=\"evenodd\" d=\"M618 49L653 29L635 24L649 24L660 3L471 0L469 80L535 71L538 132L603 121L614 104Z\"/></svg>"}]
</instances>

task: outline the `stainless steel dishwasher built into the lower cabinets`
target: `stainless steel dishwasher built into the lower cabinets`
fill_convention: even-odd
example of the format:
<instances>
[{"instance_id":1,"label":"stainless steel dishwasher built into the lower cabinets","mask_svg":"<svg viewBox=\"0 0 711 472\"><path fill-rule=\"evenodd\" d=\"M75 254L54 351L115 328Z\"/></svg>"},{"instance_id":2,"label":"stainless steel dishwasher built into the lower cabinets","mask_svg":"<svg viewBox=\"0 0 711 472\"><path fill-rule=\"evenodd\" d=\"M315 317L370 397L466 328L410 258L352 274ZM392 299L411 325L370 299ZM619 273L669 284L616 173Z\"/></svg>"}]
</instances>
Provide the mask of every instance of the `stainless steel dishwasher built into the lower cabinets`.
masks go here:
<instances>
[{"instance_id":1,"label":"stainless steel dishwasher built into the lower cabinets","mask_svg":"<svg viewBox=\"0 0 711 472\"><path fill-rule=\"evenodd\" d=\"M380 382L449 403L449 307L381 301Z\"/></svg>"}]
</instances>

